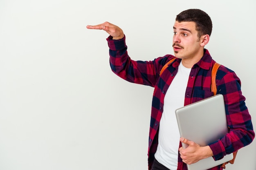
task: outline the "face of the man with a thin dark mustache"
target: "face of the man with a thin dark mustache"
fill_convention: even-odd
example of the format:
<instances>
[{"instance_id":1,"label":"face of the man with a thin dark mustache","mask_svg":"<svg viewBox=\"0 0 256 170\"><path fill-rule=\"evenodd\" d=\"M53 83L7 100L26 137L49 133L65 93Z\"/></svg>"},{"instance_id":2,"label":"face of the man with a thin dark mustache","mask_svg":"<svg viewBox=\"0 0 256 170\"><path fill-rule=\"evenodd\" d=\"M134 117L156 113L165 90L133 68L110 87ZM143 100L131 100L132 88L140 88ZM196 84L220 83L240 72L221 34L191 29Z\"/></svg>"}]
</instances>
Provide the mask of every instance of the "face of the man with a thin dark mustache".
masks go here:
<instances>
[{"instance_id":1,"label":"face of the man with a thin dark mustache","mask_svg":"<svg viewBox=\"0 0 256 170\"><path fill-rule=\"evenodd\" d=\"M203 48L201 38L198 38L198 31L195 30L195 22L175 21L173 31L173 51L177 58L202 57Z\"/></svg>"}]
</instances>

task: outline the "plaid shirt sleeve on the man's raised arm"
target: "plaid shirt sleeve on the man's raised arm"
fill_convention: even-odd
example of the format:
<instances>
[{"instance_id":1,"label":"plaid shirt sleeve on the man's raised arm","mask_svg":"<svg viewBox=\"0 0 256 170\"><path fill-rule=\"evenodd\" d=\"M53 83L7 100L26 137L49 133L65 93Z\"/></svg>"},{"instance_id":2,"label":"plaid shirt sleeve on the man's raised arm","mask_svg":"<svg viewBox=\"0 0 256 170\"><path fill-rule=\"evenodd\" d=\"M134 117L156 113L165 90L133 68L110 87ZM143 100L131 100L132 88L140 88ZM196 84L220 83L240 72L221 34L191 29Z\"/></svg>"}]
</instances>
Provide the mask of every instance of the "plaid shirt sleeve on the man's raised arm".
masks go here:
<instances>
[{"instance_id":1,"label":"plaid shirt sleeve on the man's raised arm","mask_svg":"<svg viewBox=\"0 0 256 170\"><path fill-rule=\"evenodd\" d=\"M128 82L154 87L157 82L157 63L155 60L131 60L125 39L125 36L121 40L112 40L111 36L107 38L112 71Z\"/></svg>"}]
</instances>

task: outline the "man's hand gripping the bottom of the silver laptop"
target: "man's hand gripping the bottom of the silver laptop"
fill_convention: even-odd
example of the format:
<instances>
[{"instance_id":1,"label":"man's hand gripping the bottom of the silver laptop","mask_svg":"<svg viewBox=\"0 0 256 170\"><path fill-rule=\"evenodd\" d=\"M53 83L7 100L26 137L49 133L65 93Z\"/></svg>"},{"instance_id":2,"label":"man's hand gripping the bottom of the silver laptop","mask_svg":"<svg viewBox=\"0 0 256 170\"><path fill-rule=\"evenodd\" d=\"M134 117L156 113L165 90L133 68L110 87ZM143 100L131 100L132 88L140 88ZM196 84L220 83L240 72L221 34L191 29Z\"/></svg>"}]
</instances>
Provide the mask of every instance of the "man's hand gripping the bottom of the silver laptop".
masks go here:
<instances>
[{"instance_id":1,"label":"man's hand gripping the bottom of the silver laptop","mask_svg":"<svg viewBox=\"0 0 256 170\"><path fill-rule=\"evenodd\" d=\"M200 161L201 159L213 156L213 152L209 146L200 146L195 142L189 141L188 139L184 139L182 137L180 138L180 141L187 145L187 148L179 148L180 157L186 164L190 165Z\"/></svg>"}]
</instances>

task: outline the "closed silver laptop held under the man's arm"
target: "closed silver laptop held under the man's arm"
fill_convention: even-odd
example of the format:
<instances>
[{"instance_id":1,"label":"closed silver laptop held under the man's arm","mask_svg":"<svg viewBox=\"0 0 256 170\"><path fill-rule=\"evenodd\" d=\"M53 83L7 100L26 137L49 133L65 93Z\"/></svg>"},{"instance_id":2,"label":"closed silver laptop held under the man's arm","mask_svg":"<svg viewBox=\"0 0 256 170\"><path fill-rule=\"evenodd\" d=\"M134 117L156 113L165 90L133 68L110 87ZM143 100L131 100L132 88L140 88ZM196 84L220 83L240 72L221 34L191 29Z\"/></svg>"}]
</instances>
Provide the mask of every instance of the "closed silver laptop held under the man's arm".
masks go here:
<instances>
[{"instance_id":1,"label":"closed silver laptop held under the man's arm","mask_svg":"<svg viewBox=\"0 0 256 170\"><path fill-rule=\"evenodd\" d=\"M200 146L207 146L229 132L223 95L218 94L178 108L175 114L180 136ZM187 145L182 143L182 147L186 148ZM207 170L232 159L233 154L226 155L218 161L208 157L187 167L188 170Z\"/></svg>"}]
</instances>

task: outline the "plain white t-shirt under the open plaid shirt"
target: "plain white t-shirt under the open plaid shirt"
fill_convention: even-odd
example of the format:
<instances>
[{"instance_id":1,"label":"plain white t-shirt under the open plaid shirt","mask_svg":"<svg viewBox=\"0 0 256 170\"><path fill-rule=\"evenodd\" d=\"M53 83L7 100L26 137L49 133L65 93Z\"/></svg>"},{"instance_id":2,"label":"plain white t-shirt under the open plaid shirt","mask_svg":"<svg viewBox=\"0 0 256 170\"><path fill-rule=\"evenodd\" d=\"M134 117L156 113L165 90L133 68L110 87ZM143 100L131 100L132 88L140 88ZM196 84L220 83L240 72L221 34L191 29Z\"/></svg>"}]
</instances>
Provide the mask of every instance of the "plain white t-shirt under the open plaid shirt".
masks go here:
<instances>
[{"instance_id":1,"label":"plain white t-shirt under the open plaid shirt","mask_svg":"<svg viewBox=\"0 0 256 170\"><path fill-rule=\"evenodd\" d=\"M170 170L177 170L180 133L175 110L184 106L185 92L191 68L180 62L177 75L166 91L164 110L159 124L158 146L155 159Z\"/></svg>"}]
</instances>

